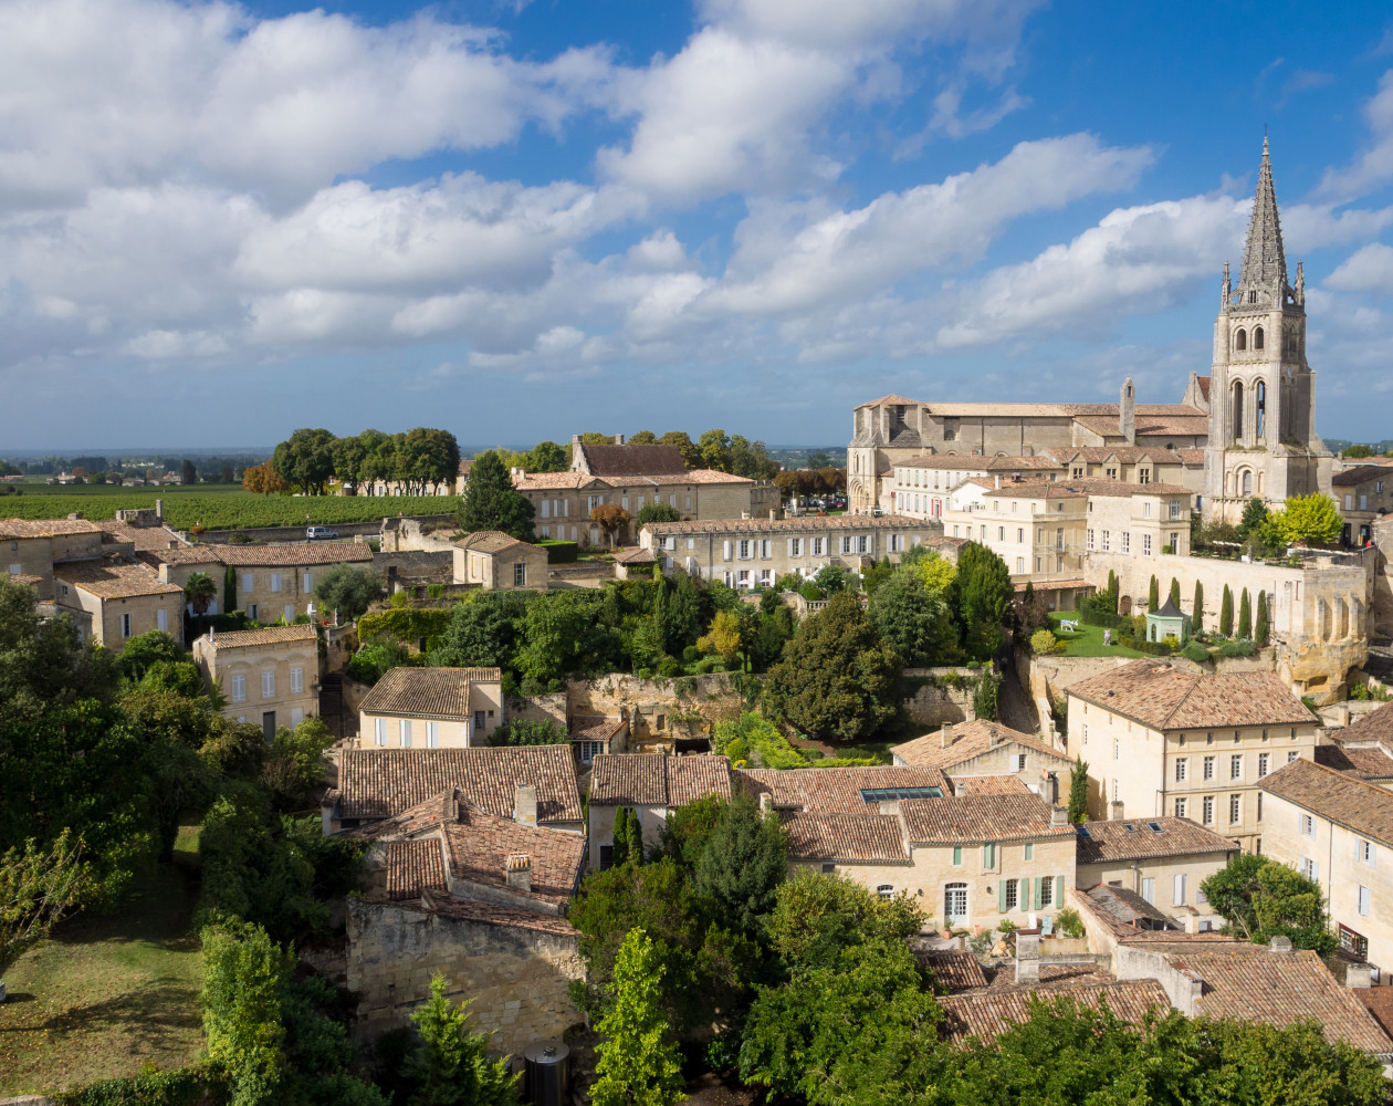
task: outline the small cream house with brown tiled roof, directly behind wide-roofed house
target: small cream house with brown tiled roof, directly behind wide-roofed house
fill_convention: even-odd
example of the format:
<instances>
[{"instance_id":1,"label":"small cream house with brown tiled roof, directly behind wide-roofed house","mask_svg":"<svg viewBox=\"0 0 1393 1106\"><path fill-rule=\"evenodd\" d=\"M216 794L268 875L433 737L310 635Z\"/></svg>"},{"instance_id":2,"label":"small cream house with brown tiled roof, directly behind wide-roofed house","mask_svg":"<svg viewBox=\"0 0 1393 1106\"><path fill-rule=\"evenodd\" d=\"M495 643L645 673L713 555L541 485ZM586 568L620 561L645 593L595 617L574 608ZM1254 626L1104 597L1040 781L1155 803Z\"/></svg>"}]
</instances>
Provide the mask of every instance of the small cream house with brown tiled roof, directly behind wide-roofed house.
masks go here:
<instances>
[{"instance_id":1,"label":"small cream house with brown tiled roof, directly behind wide-roofed house","mask_svg":"<svg viewBox=\"0 0 1393 1106\"><path fill-rule=\"evenodd\" d=\"M488 745L503 724L499 669L389 669L358 708L364 749Z\"/></svg>"}]
</instances>

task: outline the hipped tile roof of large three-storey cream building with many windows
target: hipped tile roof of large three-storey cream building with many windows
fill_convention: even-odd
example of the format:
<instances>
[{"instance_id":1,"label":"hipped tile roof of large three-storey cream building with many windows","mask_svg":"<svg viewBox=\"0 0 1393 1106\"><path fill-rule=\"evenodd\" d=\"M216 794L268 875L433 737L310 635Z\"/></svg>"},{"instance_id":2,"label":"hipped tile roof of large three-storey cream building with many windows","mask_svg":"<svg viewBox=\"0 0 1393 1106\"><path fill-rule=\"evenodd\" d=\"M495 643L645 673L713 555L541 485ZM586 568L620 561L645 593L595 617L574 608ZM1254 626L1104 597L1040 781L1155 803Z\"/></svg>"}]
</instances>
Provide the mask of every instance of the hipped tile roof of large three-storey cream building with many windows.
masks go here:
<instances>
[{"instance_id":1,"label":"hipped tile roof of large three-storey cream building with many windows","mask_svg":"<svg viewBox=\"0 0 1393 1106\"><path fill-rule=\"evenodd\" d=\"M1307 726L1315 715L1270 671L1195 673L1134 660L1068 687L1068 695L1153 730Z\"/></svg>"}]
</instances>

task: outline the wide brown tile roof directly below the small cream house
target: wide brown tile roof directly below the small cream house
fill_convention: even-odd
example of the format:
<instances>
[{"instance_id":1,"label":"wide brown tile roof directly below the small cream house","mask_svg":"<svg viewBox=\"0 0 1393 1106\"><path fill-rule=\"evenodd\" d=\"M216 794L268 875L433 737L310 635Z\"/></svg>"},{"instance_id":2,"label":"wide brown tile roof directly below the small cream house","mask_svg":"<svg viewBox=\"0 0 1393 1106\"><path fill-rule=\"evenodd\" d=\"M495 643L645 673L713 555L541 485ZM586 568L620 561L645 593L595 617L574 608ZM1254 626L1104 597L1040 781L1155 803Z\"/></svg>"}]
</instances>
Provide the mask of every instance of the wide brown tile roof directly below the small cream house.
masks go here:
<instances>
[{"instance_id":1,"label":"wide brown tile roof directly below the small cream house","mask_svg":"<svg viewBox=\"0 0 1393 1106\"><path fill-rule=\"evenodd\" d=\"M513 816L518 784L536 786L538 819L579 822L581 793L570 745L464 749L344 749L340 818L390 818L450 787L499 818Z\"/></svg>"}]
</instances>

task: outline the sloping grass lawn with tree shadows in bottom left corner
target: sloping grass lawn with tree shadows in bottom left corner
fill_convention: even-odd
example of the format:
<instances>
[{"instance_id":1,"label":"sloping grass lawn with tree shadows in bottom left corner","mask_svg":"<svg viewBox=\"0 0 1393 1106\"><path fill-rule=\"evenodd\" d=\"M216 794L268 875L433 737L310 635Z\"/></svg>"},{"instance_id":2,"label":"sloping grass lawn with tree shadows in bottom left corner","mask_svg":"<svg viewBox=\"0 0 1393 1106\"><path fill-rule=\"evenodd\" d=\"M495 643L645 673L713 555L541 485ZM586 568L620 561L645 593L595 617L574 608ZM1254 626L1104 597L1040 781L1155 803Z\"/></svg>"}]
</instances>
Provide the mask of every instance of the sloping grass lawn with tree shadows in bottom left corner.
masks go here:
<instances>
[{"instance_id":1,"label":"sloping grass lawn with tree shadows in bottom left corner","mask_svg":"<svg viewBox=\"0 0 1393 1106\"><path fill-rule=\"evenodd\" d=\"M116 914L72 919L6 974L0 1096L177 1067L202 1050L195 827L177 848Z\"/></svg>"}]
</instances>

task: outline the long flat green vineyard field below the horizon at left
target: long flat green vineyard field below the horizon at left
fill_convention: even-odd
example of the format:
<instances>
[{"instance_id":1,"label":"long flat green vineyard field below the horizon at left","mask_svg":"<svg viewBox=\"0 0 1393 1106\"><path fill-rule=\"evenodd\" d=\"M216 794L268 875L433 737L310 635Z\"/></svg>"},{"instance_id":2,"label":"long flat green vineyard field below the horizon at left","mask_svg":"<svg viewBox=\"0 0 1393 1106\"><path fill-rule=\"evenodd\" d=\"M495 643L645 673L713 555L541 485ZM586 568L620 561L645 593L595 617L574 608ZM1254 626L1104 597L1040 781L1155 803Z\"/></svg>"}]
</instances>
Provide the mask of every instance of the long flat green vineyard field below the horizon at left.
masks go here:
<instances>
[{"instance_id":1,"label":"long flat green vineyard field below the horizon at left","mask_svg":"<svg viewBox=\"0 0 1393 1106\"><path fill-rule=\"evenodd\" d=\"M32 490L31 490L32 489ZM199 483L188 488L57 488L25 485L24 494L0 494L0 518L116 518L118 510L153 507L164 500L164 520L176 529L336 525L372 522L398 514L453 514L454 496L256 496L238 485Z\"/></svg>"}]
</instances>

